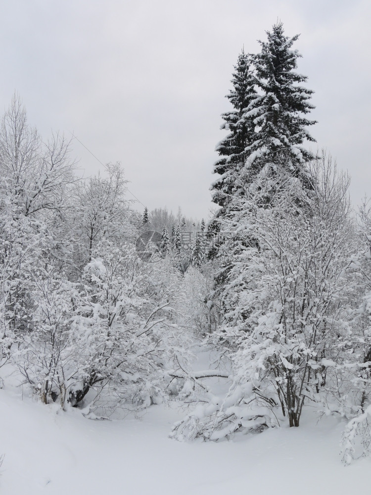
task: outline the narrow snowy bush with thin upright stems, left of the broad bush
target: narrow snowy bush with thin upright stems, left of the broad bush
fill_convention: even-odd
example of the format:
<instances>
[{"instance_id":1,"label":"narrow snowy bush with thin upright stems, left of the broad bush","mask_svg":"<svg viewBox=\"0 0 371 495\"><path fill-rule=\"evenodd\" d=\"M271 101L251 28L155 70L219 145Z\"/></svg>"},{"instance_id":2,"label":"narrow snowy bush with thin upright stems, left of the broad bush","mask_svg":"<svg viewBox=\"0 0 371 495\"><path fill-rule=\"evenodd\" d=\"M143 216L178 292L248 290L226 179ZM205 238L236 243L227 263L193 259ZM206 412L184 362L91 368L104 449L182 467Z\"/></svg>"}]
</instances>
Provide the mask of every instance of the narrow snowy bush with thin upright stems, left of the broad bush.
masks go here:
<instances>
[{"instance_id":1,"label":"narrow snowy bush with thin upright stems, left of the broad bush","mask_svg":"<svg viewBox=\"0 0 371 495\"><path fill-rule=\"evenodd\" d=\"M52 273L52 266L48 267ZM73 346L71 324L76 289L66 280L55 279L46 271L30 270L33 277L32 328L17 340L13 352L25 382L42 402L58 399L64 407L71 377L76 372L78 349Z\"/></svg>"}]
</instances>

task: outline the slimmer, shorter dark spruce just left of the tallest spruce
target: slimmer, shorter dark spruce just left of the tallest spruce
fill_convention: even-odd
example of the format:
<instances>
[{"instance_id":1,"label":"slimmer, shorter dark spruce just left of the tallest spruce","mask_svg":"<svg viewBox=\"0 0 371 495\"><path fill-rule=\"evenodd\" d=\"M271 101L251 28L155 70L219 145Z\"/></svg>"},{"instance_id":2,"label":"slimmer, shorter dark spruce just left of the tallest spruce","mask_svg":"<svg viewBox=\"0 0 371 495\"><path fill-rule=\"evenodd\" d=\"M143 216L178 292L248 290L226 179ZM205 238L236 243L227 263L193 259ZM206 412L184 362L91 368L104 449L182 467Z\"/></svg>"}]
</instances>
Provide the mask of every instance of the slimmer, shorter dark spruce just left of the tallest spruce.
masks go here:
<instances>
[{"instance_id":1,"label":"slimmer, shorter dark spruce just left of the tallest spruce","mask_svg":"<svg viewBox=\"0 0 371 495\"><path fill-rule=\"evenodd\" d=\"M233 109L222 114L224 123L221 126L229 134L216 146L220 158L214 164L213 172L220 177L211 186L213 201L220 206L225 206L229 195L235 193L234 179L244 165L245 148L254 141L255 124L245 111L256 97L255 78L250 55L244 50L238 56L231 82L232 90L226 98Z\"/></svg>"}]
</instances>

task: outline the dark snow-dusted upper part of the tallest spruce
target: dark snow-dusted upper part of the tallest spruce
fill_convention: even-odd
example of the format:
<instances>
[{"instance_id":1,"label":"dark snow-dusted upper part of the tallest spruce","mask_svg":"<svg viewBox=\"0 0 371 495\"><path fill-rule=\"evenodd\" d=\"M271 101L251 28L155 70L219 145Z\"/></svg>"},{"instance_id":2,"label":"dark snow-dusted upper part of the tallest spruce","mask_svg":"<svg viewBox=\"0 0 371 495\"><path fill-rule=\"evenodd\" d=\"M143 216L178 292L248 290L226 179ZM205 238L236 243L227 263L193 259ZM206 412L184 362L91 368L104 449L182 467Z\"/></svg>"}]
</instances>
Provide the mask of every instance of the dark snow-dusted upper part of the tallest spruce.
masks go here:
<instances>
[{"instance_id":1,"label":"dark snow-dusted upper part of the tallest spruce","mask_svg":"<svg viewBox=\"0 0 371 495\"><path fill-rule=\"evenodd\" d=\"M304 164L314 156L302 144L315 141L306 129L315 121L305 117L314 108L309 102L313 91L301 85L307 77L295 71L301 55L292 45L298 35L285 36L279 22L267 36L267 42L259 42L261 52L254 56L256 84L262 94L244 114L244 118L253 118L256 131L245 148L246 166L254 176L263 167L274 170L281 165L308 185Z\"/></svg>"}]
</instances>

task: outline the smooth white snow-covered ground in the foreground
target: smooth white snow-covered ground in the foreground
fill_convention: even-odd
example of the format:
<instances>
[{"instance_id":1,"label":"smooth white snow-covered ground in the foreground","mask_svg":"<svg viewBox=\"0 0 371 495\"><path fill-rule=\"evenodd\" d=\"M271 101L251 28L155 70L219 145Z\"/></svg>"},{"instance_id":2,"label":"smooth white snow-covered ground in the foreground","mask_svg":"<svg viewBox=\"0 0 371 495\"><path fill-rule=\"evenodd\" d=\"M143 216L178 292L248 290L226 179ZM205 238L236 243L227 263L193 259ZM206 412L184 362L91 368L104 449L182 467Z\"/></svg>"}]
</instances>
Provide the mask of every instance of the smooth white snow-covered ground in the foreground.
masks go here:
<instances>
[{"instance_id":1,"label":"smooth white snow-covered ground in the foreground","mask_svg":"<svg viewBox=\"0 0 371 495\"><path fill-rule=\"evenodd\" d=\"M0 390L0 493L370 493L371 460L341 464L344 423L334 418L307 410L300 428L186 444L168 438L183 414L157 405L140 419L89 420Z\"/></svg>"}]
</instances>

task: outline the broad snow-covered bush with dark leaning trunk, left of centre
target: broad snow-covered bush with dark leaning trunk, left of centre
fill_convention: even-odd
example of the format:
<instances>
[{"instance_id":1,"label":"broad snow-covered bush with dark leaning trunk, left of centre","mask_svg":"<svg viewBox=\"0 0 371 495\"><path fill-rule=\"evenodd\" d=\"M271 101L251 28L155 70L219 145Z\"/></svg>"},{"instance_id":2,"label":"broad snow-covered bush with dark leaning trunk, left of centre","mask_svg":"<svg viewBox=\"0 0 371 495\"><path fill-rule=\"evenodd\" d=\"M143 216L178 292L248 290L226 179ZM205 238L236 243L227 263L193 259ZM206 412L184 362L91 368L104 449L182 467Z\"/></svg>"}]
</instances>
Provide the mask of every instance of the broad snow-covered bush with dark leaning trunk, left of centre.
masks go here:
<instances>
[{"instance_id":1,"label":"broad snow-covered bush with dark leaning trunk, left of centre","mask_svg":"<svg viewBox=\"0 0 371 495\"><path fill-rule=\"evenodd\" d=\"M166 260L147 264L133 246L98 243L76 310L79 381L70 392L73 405L91 390L95 405L103 407L162 400L166 370L187 355L187 334L177 325L179 278Z\"/></svg>"}]
</instances>

